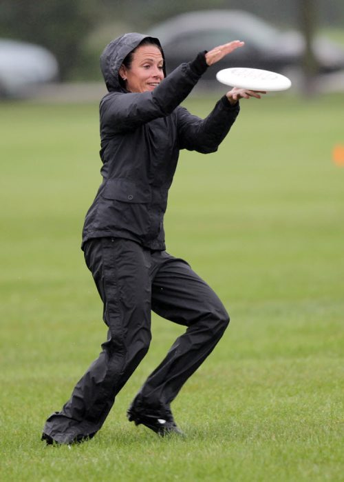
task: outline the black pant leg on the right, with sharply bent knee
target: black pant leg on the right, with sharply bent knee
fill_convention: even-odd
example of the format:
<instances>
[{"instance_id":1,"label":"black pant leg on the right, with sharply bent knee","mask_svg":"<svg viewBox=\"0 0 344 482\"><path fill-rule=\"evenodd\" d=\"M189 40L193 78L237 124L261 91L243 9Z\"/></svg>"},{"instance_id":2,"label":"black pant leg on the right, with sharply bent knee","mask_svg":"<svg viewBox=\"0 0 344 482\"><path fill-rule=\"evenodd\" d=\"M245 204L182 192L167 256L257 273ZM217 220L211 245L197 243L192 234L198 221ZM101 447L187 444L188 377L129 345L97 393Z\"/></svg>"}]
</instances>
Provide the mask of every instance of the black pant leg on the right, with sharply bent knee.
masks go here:
<instances>
[{"instance_id":1,"label":"black pant leg on the right, with sharply bent knee","mask_svg":"<svg viewBox=\"0 0 344 482\"><path fill-rule=\"evenodd\" d=\"M166 253L162 257L165 260L153 279L152 309L187 329L144 383L132 406L164 414L182 385L215 348L229 317L215 292L185 261Z\"/></svg>"}]
</instances>

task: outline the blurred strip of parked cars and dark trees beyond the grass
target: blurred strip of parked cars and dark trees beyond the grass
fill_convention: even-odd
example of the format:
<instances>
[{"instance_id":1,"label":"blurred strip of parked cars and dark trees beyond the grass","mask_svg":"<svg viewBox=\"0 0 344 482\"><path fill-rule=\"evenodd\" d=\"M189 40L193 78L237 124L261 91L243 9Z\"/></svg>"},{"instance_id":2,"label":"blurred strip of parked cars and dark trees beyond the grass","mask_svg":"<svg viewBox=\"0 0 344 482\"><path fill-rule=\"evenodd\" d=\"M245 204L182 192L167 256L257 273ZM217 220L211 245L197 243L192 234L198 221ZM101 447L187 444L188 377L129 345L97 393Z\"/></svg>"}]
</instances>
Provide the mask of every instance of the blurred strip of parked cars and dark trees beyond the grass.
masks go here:
<instances>
[{"instance_id":1,"label":"blurred strip of parked cars and dark trees beyond the grass","mask_svg":"<svg viewBox=\"0 0 344 482\"><path fill-rule=\"evenodd\" d=\"M128 31L158 36L168 70L238 38L245 49L217 68L277 70L308 94L342 90L343 23L341 0L2 0L0 98L98 98L100 53ZM213 79L210 69L201 87Z\"/></svg>"}]
</instances>

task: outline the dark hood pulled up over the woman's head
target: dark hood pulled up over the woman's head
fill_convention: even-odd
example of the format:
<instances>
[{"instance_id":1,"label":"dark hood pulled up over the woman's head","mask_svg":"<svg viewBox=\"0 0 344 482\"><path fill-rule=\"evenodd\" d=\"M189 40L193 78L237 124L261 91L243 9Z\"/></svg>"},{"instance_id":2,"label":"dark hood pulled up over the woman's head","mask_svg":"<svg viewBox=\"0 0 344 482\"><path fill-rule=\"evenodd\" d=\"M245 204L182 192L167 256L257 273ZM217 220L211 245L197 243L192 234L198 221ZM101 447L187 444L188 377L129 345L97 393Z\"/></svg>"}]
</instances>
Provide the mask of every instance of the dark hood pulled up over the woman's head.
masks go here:
<instances>
[{"instance_id":1,"label":"dark hood pulled up over the woman's head","mask_svg":"<svg viewBox=\"0 0 344 482\"><path fill-rule=\"evenodd\" d=\"M127 55L138 46L138 44L147 37L153 39L158 46L161 47L160 41L155 37L150 37L149 35L139 34L137 32L131 32L128 34L121 35L111 41L104 49L103 54L100 56L100 69L103 73L105 84L109 92L122 91L122 88L118 80L118 72L123 60ZM162 57L165 60L164 53ZM164 66L164 77L166 77L166 71Z\"/></svg>"}]
</instances>

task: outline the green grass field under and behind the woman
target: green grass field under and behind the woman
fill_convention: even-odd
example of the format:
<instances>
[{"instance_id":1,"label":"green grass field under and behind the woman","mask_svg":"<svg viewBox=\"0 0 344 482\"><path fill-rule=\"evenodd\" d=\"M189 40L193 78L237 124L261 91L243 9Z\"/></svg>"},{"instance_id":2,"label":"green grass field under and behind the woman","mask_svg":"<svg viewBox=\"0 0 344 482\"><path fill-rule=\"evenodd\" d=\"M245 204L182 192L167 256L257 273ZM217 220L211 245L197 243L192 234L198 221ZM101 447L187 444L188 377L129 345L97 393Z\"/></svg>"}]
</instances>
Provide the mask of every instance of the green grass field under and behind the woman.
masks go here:
<instances>
[{"instance_id":1,"label":"green grass field under and behind the woman","mask_svg":"<svg viewBox=\"0 0 344 482\"><path fill-rule=\"evenodd\" d=\"M191 99L196 114L214 99ZM182 152L166 214L231 315L158 439L125 411L181 327L153 342L89 443L40 441L105 339L80 251L100 183L98 106L5 103L1 151L1 481L343 481L344 95L242 101L215 154Z\"/></svg>"}]
</instances>

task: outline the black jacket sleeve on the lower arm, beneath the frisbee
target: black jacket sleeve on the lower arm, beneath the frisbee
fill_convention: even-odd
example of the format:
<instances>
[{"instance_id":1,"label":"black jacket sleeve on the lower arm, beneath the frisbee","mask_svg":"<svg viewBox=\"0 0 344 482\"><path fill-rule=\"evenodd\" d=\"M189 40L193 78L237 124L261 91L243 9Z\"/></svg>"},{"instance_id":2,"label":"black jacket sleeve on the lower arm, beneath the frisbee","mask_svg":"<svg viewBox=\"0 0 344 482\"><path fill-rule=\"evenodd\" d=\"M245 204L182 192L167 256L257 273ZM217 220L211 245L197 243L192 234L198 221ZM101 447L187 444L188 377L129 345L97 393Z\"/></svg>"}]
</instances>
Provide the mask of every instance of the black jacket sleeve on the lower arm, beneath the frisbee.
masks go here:
<instances>
[{"instance_id":1,"label":"black jacket sleeve on the lower arm, beneath the frisbee","mask_svg":"<svg viewBox=\"0 0 344 482\"><path fill-rule=\"evenodd\" d=\"M239 110L239 102L232 106L225 95L205 119L190 114L186 108L178 108L180 149L197 150L203 154L217 151L235 122Z\"/></svg>"}]
</instances>

